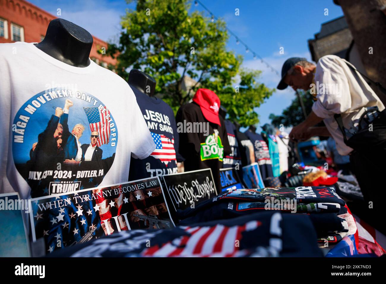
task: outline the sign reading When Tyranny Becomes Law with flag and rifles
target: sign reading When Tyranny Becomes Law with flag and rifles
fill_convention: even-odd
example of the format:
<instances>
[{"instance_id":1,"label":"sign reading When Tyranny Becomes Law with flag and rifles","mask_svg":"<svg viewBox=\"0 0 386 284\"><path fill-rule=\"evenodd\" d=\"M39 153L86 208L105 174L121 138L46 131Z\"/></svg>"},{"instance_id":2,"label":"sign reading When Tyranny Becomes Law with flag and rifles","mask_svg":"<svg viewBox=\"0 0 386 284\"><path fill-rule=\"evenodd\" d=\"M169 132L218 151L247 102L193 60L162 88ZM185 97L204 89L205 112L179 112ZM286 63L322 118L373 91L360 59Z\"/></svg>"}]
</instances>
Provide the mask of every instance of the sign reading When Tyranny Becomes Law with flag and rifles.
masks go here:
<instances>
[{"instance_id":1,"label":"sign reading When Tyranny Becomes Law with flag and rifles","mask_svg":"<svg viewBox=\"0 0 386 284\"><path fill-rule=\"evenodd\" d=\"M158 177L32 199L30 221L46 254L122 230L174 227Z\"/></svg>"}]
</instances>

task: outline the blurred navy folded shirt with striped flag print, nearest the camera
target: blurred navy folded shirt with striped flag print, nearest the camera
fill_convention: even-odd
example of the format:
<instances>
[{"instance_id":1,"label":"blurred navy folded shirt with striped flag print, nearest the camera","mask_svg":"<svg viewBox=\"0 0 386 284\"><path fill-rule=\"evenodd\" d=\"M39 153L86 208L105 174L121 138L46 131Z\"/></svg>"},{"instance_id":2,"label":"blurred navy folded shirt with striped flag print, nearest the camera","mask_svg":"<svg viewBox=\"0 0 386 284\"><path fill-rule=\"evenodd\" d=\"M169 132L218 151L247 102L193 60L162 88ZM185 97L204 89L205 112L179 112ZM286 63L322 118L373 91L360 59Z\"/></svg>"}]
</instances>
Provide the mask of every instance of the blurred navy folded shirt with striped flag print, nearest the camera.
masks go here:
<instances>
[{"instance_id":1,"label":"blurred navy folded shirt with striped flag print, nearest the camera","mask_svg":"<svg viewBox=\"0 0 386 284\"><path fill-rule=\"evenodd\" d=\"M122 231L54 256L322 257L315 239L310 216L264 211L171 229Z\"/></svg>"}]
</instances>

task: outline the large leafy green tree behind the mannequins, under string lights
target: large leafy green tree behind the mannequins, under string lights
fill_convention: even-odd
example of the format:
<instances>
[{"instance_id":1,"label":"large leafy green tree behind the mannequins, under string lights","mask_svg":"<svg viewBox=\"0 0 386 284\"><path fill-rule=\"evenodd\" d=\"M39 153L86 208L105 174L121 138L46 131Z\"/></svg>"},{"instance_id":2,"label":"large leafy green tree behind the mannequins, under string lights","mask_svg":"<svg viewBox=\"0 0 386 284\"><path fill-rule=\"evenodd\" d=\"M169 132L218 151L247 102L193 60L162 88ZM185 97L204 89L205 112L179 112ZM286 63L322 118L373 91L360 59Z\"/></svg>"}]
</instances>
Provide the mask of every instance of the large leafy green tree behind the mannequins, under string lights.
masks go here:
<instances>
[{"instance_id":1,"label":"large leafy green tree behind the mannequins, under string lights","mask_svg":"<svg viewBox=\"0 0 386 284\"><path fill-rule=\"evenodd\" d=\"M220 97L230 120L242 126L259 121L253 108L273 90L256 83L260 71L240 68L243 57L227 50L229 34L223 20L212 22L203 13L189 13L187 0L135 2L136 10L128 10L122 17L119 44L109 44L107 49L107 55L117 57L122 78L127 81L131 68L150 74L157 81L156 92L174 112L198 88L207 88ZM182 90L186 75L197 83ZM239 88L235 78L241 79Z\"/></svg>"}]
</instances>

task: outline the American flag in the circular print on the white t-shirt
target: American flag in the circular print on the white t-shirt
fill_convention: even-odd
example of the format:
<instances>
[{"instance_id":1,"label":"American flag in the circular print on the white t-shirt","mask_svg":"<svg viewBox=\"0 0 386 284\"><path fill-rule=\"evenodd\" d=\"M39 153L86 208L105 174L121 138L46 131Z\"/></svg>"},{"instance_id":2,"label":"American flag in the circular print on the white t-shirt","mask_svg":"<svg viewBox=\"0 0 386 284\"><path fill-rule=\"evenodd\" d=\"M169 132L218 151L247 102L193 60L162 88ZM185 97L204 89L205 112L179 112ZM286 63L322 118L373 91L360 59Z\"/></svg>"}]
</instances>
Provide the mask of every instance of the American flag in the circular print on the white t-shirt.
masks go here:
<instances>
[{"instance_id":1,"label":"American flag in the circular print on the white t-shirt","mask_svg":"<svg viewBox=\"0 0 386 284\"><path fill-rule=\"evenodd\" d=\"M106 108L106 107L105 107ZM109 137L110 137L110 125L108 123L108 119L106 116L110 114L110 111L106 108L106 112L102 113L99 108L86 108L83 107L85 110L88 123L90 123L90 130L98 131L98 141L97 145L98 147L102 146L103 144L108 144Z\"/></svg>"}]
</instances>

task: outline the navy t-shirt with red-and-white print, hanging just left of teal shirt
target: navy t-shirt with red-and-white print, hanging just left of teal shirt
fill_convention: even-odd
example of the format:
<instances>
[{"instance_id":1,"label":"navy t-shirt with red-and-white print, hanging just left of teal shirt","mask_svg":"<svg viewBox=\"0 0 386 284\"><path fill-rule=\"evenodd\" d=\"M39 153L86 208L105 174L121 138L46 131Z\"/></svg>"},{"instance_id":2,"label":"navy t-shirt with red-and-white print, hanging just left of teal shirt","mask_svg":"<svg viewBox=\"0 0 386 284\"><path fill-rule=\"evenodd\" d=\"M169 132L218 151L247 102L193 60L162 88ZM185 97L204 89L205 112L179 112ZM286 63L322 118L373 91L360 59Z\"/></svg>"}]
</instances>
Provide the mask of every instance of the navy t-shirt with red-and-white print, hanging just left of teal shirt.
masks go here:
<instances>
[{"instance_id":1,"label":"navy t-shirt with red-and-white print, hanging just left of teal shirt","mask_svg":"<svg viewBox=\"0 0 386 284\"><path fill-rule=\"evenodd\" d=\"M266 177L273 176L272 161L269 156L268 145L260 134L249 130L244 132L251 140L253 149L255 150L255 161L259 164L261 177L264 180Z\"/></svg>"}]
</instances>

